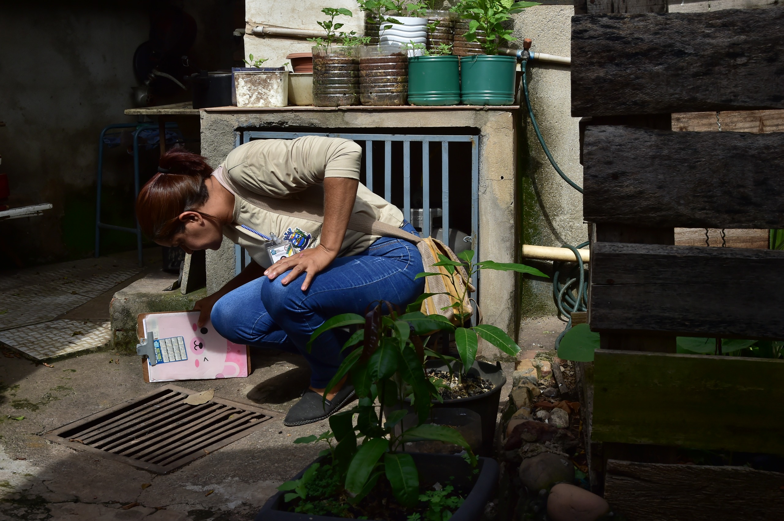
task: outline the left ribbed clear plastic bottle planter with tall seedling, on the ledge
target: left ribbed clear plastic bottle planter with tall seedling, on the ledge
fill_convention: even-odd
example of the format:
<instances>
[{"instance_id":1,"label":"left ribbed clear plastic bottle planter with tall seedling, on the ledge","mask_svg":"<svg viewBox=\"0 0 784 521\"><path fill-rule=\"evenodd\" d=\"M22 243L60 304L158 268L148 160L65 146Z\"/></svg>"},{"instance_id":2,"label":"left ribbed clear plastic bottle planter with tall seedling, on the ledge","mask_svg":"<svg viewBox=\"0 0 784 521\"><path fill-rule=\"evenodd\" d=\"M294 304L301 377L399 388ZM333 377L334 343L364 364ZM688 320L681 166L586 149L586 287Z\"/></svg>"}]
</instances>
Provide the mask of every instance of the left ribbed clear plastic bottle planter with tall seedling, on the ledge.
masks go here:
<instances>
[{"instance_id":1,"label":"left ribbed clear plastic bottle planter with tall seedling, on the ledge","mask_svg":"<svg viewBox=\"0 0 784 521\"><path fill-rule=\"evenodd\" d=\"M338 32L343 24L337 16L353 16L343 7L325 7L329 20L318 22L324 38L308 38L313 47L313 102L316 107L343 107L359 104L358 47L369 41L354 31Z\"/></svg>"}]
</instances>

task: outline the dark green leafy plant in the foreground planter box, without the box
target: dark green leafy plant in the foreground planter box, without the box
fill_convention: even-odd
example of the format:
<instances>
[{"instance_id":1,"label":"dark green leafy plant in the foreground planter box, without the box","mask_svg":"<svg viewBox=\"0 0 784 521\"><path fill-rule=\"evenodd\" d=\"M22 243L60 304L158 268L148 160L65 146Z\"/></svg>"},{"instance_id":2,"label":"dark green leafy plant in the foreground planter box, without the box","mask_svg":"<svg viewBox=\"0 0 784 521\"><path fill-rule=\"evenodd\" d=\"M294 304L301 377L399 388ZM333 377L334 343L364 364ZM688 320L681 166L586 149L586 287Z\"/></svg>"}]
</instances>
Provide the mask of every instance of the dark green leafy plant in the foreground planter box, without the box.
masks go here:
<instances>
[{"instance_id":1,"label":"dark green leafy plant in the foreground planter box, without the box","mask_svg":"<svg viewBox=\"0 0 784 521\"><path fill-rule=\"evenodd\" d=\"M299 498L296 508L311 508L306 504L318 499L318 494L311 490L318 489L321 494L325 490L323 483L337 483L334 490L321 497L330 497L330 501L338 498L331 508L348 508L347 505L356 505L370 493L379 479L386 479L401 505L417 505L419 474L411 455L401 450L406 441L454 443L465 448L471 464L476 465L469 443L456 429L424 423L430 415L431 400L440 399L440 396L435 383L426 377L423 365L426 356L437 356L437 353L425 348L420 335L454 331L455 327L440 315L426 316L419 310L401 314L396 306L378 302L364 317L345 313L325 321L310 336L307 349L325 331L350 326L362 328L343 346L343 350L350 352L326 385L325 395L347 377L358 395L358 406L333 414L329 418L331 431L295 440L295 443L328 443L329 448L321 455L328 460L332 481L319 474L319 469L324 469L323 464L315 470L313 465L301 479L286 482L279 490L290 491L285 494L285 501ZM416 425L405 430L395 429L408 414L407 399L416 412ZM376 401L381 408L387 407L387 411L391 411L386 421L380 410L376 414ZM357 414L356 423L354 414ZM334 447L333 441L336 442ZM313 483L319 483L318 487ZM323 505L318 508L321 507Z\"/></svg>"}]
</instances>

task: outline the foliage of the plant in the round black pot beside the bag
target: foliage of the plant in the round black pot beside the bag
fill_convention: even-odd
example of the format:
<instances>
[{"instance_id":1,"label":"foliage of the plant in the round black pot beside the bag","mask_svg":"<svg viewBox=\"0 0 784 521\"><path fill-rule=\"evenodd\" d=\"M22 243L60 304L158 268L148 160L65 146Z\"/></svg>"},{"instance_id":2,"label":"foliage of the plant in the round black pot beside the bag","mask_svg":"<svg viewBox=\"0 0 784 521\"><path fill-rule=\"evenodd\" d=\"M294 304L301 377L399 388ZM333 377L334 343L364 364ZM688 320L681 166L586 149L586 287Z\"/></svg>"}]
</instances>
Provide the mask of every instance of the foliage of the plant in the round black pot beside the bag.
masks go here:
<instances>
[{"instance_id":1,"label":"foliage of the plant in the round black pot beside the bag","mask_svg":"<svg viewBox=\"0 0 784 521\"><path fill-rule=\"evenodd\" d=\"M449 276L452 277L452 284L454 284L455 288L459 288L457 277L463 276L462 273L459 272L460 269L465 269L466 275L469 278L473 277L474 273L478 273L480 270L516 271L517 273L528 273L529 275L535 275L537 277L547 277L545 273L542 273L536 268L525 266L524 264L517 264L515 262L474 262L473 250L461 251L457 256L463 262L453 261L446 255L439 254L438 262L433 265L444 266L447 273L449 273ZM417 274L416 278L429 277L430 275L437 275L440 277L441 273L424 272ZM415 302L410 304L407 310L412 311L414 309L420 309L422 307L422 302L433 295L450 295L455 302L451 306L446 306L441 309L441 311L445 311L450 307L453 308L459 324L466 324L466 322L470 320L471 313L463 305L463 302L466 302L466 296L468 295L467 285L463 286L462 295L452 295L452 293L425 293L417 298ZM495 327L490 324L478 324L474 327L457 327L455 330L455 343L460 361L462 362L462 374L467 374L474 365L474 360L476 360L477 348L479 346L477 335L510 356L515 356L520 351L520 346L517 346L517 343L514 342L509 335L506 335L500 327Z\"/></svg>"}]
</instances>

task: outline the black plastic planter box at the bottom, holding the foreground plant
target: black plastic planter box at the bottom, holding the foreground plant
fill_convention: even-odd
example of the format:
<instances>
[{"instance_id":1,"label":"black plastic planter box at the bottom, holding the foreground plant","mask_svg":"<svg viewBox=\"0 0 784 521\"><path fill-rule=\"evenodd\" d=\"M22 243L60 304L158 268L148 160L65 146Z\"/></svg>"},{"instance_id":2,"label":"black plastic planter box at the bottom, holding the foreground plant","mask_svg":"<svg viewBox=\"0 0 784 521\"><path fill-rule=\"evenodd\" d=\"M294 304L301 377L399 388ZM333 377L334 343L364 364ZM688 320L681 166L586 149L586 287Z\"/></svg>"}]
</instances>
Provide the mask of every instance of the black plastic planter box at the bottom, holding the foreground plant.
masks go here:
<instances>
[{"instance_id":1,"label":"black plastic planter box at the bottom, holding the foreground plant","mask_svg":"<svg viewBox=\"0 0 784 521\"><path fill-rule=\"evenodd\" d=\"M445 483L449 481L456 488L470 485L472 469L463 457L454 454L424 454L419 452L408 454L411 454L414 461L416 461L420 482ZM474 487L471 488L466 501L463 502L463 506L457 509L450 521L476 521L481 519L482 512L485 511L485 504L492 496L493 490L495 490L498 483L498 463L491 458L478 459L477 469L479 469L479 475L474 483ZM320 460L321 458L316 461ZM301 478L306 469L299 472L294 479ZM455 479L450 480L449 478L452 476ZM285 512L282 510L282 508L285 508L284 494L285 492L278 492L278 494L270 497L269 501L256 515L256 521L334 521L335 519L343 519L332 516L311 516L310 514Z\"/></svg>"}]
</instances>

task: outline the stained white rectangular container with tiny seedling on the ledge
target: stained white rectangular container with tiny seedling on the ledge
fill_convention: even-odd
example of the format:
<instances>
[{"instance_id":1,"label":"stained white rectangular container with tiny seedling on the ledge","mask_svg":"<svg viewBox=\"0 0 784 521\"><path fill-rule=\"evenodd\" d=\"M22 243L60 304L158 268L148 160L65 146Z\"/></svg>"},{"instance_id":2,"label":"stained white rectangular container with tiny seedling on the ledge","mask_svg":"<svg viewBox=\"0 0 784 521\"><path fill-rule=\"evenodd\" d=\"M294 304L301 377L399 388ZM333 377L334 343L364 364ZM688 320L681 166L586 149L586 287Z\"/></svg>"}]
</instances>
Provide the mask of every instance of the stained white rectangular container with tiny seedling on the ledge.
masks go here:
<instances>
[{"instance_id":1,"label":"stained white rectangular container with tiny seedling on the ledge","mask_svg":"<svg viewBox=\"0 0 784 521\"><path fill-rule=\"evenodd\" d=\"M289 71L263 67L269 59L248 55L248 67L231 69L232 102L238 107L285 107L289 103Z\"/></svg>"}]
</instances>

